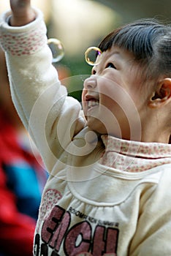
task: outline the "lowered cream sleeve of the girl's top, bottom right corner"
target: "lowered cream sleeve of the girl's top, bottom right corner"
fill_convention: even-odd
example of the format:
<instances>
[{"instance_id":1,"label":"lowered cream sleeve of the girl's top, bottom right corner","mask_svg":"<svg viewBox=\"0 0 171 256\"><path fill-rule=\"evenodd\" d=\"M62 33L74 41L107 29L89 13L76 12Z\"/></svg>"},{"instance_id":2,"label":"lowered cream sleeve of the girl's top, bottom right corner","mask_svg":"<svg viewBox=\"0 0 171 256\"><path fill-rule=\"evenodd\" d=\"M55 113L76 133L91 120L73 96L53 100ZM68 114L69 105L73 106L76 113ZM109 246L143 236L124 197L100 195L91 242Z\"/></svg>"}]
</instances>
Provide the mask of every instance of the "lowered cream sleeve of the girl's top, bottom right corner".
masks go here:
<instances>
[{"instance_id":1,"label":"lowered cream sleeve of the girl's top, bottom right corner","mask_svg":"<svg viewBox=\"0 0 171 256\"><path fill-rule=\"evenodd\" d=\"M129 248L131 256L171 255L170 165L161 168L159 184L150 197L142 200L137 230Z\"/></svg>"}]
</instances>

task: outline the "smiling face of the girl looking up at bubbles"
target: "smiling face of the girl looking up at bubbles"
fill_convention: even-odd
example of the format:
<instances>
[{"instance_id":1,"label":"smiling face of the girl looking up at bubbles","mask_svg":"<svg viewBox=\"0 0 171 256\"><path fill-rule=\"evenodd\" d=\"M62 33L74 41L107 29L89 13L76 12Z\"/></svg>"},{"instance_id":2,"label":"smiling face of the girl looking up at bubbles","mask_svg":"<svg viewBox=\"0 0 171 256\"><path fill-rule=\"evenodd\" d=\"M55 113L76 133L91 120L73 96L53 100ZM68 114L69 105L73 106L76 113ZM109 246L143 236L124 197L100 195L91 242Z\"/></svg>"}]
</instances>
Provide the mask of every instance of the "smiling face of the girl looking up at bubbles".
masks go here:
<instances>
[{"instance_id":1,"label":"smiling face of the girl looking up at bubbles","mask_svg":"<svg viewBox=\"0 0 171 256\"><path fill-rule=\"evenodd\" d=\"M149 99L149 91L140 89L140 67L131 53L114 46L98 58L99 64L83 88L88 127L100 134L130 139L131 133L140 129Z\"/></svg>"}]
</instances>

